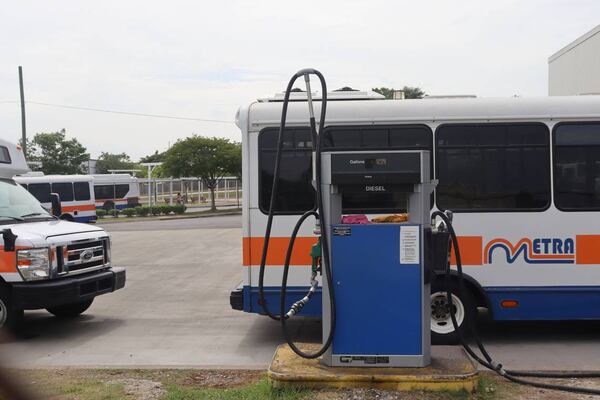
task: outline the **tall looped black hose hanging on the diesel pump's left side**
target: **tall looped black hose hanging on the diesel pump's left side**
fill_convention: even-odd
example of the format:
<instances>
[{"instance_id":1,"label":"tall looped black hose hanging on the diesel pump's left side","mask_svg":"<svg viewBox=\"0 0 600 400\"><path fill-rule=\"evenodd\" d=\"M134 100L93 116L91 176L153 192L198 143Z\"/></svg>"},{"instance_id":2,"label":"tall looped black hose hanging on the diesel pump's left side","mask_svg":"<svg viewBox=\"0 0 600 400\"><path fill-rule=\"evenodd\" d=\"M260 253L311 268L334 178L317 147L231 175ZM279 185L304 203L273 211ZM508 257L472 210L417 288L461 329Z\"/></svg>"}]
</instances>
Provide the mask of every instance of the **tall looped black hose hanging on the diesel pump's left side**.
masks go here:
<instances>
[{"instance_id":1,"label":"tall looped black hose hanging on the diesel pump's left side","mask_svg":"<svg viewBox=\"0 0 600 400\"><path fill-rule=\"evenodd\" d=\"M315 75L317 76L317 78L319 79L320 83L321 83L321 113L320 113L320 117L319 117L319 126L318 126L318 131L317 131L317 125L316 125L316 120L314 117L314 113L313 113L313 108L312 108L312 93L311 93L311 88L310 88L310 75ZM288 109L288 104L290 101L290 95L292 93L292 88L294 86L294 83L296 82L296 80L300 77L304 77L305 83L306 83L306 95L307 95L307 103L309 106L309 117L310 117L310 132L311 132L311 138L312 138L312 143L313 143L313 152L312 152L312 156L313 156L313 183L315 186L315 206L306 211L299 219L298 222L296 223L296 225L294 226L294 230L292 231L291 237L290 237L290 243L288 245L288 249L286 252L286 257L285 257L285 263L283 266L283 276L282 276L282 283L281 283L281 289L280 289L280 304L279 304L279 315L275 315L271 312L271 310L269 310L269 307L267 305L267 301L265 299L265 292L264 292L264 277L265 277L265 266L266 266L266 262L267 262L267 254L269 251L269 241L271 238L271 228L273 225L273 217L275 215L275 208L276 208L276 203L277 203L277 194L278 194L278 184L279 184L279 171L280 171L280 166L281 166L281 153L282 153L282 149L283 149L283 139L284 139L284 132L285 132L285 123L286 123L286 118L287 118L287 109ZM329 346L331 346L331 342L333 340L333 332L335 331L335 297L334 297L334 292L333 292L333 285L329 284L327 285L328 287L328 295L329 295L329 305L330 305L330 315L331 315L331 325L329 328L329 333L327 335L327 338L325 339L323 346L315 353L306 353L302 350L300 350L298 348L298 346L296 346L293 342L293 340L291 339L291 336L288 332L287 329L287 319L291 316L296 314L297 312L299 312L302 307L304 307L304 305L306 304L306 302L308 302L308 300L311 298L311 296L314 294L314 292L316 291L316 287L317 287L317 281L316 281L316 274L315 271L313 270L313 275L311 277L311 286L310 289L308 291L308 293L306 294L306 296L301 299L300 301L294 303L294 305L292 306L292 309L289 312L286 312L286 295L287 295L287 278L288 278L288 273L289 273L289 267L290 267L290 262L291 262L291 256L292 256L292 252L293 252L293 248L294 248L294 243L296 240L296 237L298 235L298 231L300 230L300 227L302 226L302 223L304 221L306 221L306 219L308 219L309 217L315 217L318 222L319 222L319 227L320 227L320 238L319 243L321 244L321 248L322 248L322 252L321 252L321 272L325 272L325 277L327 279L327 282L331 283L333 282L333 276L332 276L332 272L331 272L331 266L329 263L329 246L328 246L328 227L325 226L325 213L324 213L324 207L323 207L323 198L321 195L321 150L322 150L322 133L323 133L323 128L325 126L325 114L326 114L326 109L327 109L327 84L325 83L325 78L323 77L323 74L321 74L319 71L312 69L312 68L308 68L308 69L303 69L300 70L298 72L296 72L296 74L294 74L294 76L290 79L288 86L286 88L285 91L285 96L283 99L283 105L282 105L282 111L281 111L281 123L279 126L279 137L277 140L277 152L275 155L275 167L274 167L274 171L273 171L273 185L271 187L271 199L269 202L269 213L267 216L267 226L265 229L265 237L264 237L264 244L263 244L263 251L262 251L262 256L261 256L261 261L260 261L260 269L259 269L259 275L258 275L258 293L259 293L259 305L261 306L263 312L268 315L270 318L274 319L274 320L279 320L281 322L281 329L283 331L283 336L286 340L286 342L288 343L288 345L290 346L290 348L299 356L304 357L304 358L317 358L320 357L321 355L323 355L327 349L329 348Z\"/></svg>"}]
</instances>

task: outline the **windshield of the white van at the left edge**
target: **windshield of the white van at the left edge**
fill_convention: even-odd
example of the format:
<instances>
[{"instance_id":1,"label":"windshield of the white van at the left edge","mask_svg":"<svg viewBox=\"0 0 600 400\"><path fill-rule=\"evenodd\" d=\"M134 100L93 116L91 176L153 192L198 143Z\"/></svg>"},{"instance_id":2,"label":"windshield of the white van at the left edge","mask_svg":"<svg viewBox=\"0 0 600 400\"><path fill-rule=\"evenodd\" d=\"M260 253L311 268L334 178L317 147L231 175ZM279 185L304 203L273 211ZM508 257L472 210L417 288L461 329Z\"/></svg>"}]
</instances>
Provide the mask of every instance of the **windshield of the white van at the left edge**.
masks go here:
<instances>
[{"instance_id":1,"label":"windshield of the white van at the left edge","mask_svg":"<svg viewBox=\"0 0 600 400\"><path fill-rule=\"evenodd\" d=\"M11 179L0 179L0 224L53 218L27 190Z\"/></svg>"}]
</instances>

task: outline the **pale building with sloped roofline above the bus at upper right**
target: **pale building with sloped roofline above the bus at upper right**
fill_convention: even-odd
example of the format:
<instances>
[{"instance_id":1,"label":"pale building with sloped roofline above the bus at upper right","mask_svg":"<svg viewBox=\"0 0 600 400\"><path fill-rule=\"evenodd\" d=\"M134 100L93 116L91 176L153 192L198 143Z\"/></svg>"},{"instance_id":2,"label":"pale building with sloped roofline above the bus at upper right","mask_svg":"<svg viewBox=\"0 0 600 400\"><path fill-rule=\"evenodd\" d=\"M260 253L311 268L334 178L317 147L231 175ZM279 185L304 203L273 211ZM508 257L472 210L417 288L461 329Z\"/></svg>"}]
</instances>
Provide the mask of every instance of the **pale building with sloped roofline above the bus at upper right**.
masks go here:
<instances>
[{"instance_id":1,"label":"pale building with sloped roofline above the bus at upper right","mask_svg":"<svg viewBox=\"0 0 600 400\"><path fill-rule=\"evenodd\" d=\"M548 58L548 94L600 94L600 25Z\"/></svg>"}]
</instances>

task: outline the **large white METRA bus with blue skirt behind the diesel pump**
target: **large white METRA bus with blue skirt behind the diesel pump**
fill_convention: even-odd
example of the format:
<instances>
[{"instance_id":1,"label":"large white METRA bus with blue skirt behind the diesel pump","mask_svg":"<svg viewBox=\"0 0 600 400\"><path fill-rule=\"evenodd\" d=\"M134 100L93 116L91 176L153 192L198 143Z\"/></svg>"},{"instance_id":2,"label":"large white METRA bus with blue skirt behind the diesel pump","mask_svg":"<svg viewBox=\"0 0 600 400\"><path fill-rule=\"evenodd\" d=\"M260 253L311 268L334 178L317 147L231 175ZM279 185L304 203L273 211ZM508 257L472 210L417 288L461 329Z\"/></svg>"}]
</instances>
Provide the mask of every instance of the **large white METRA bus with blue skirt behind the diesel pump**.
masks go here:
<instances>
[{"instance_id":1,"label":"large white METRA bus with blue skirt behind the diesel pump","mask_svg":"<svg viewBox=\"0 0 600 400\"><path fill-rule=\"evenodd\" d=\"M476 307L496 320L600 319L600 96L376 100L363 92L329 99L324 151L429 150L439 184L432 210L454 211L469 297L455 301L462 325ZM305 101L289 104L280 196L265 273L271 310L289 236L313 205L312 143ZM318 99L318 94L314 95ZM342 97L346 98L342 99ZM304 97L305 98L305 97ZM336 101L337 99L344 101ZM263 247L281 97L238 111L243 152L243 282L231 306L261 313ZM315 102L315 114L320 103ZM344 194L347 214L405 208L386 193ZM296 240L288 300L303 297L311 273L310 222ZM432 279L435 343L455 341L442 282ZM302 310L321 314L320 293Z\"/></svg>"}]
</instances>

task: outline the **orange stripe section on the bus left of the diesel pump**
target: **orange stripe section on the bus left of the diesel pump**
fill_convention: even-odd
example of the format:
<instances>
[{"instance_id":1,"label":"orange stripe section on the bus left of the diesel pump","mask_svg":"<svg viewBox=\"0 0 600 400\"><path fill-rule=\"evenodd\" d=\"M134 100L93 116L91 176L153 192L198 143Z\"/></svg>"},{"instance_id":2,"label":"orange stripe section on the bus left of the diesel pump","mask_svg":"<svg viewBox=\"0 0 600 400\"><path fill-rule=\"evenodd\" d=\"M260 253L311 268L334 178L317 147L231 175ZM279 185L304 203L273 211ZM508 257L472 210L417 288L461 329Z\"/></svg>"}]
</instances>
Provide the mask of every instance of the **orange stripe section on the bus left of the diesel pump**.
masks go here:
<instances>
[{"instance_id":1,"label":"orange stripe section on the bus left of the diesel pump","mask_svg":"<svg viewBox=\"0 0 600 400\"><path fill-rule=\"evenodd\" d=\"M265 239L262 237L245 237L242 242L243 265L259 266ZM317 242L315 237L297 237L290 265L311 265L310 248ZM272 237L269 240L267 265L283 265L290 243L288 237Z\"/></svg>"}]
</instances>

